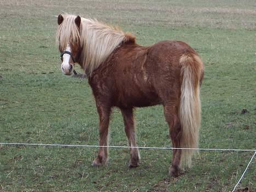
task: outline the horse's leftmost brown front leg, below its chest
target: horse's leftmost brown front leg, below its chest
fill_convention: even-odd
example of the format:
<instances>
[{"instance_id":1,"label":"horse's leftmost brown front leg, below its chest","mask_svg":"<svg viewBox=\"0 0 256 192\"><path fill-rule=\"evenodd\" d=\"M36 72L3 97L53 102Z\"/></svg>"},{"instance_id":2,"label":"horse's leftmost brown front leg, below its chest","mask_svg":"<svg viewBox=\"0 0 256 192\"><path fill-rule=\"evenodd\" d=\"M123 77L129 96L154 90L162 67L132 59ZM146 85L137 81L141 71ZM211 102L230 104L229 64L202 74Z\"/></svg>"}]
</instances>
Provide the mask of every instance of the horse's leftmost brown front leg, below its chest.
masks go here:
<instances>
[{"instance_id":1,"label":"horse's leftmost brown front leg, below its chest","mask_svg":"<svg viewBox=\"0 0 256 192\"><path fill-rule=\"evenodd\" d=\"M98 115L100 118L100 146L108 146L108 125L110 107L103 106L96 102ZM97 158L92 162L92 166L103 166L108 161L108 147L100 147Z\"/></svg>"}]
</instances>

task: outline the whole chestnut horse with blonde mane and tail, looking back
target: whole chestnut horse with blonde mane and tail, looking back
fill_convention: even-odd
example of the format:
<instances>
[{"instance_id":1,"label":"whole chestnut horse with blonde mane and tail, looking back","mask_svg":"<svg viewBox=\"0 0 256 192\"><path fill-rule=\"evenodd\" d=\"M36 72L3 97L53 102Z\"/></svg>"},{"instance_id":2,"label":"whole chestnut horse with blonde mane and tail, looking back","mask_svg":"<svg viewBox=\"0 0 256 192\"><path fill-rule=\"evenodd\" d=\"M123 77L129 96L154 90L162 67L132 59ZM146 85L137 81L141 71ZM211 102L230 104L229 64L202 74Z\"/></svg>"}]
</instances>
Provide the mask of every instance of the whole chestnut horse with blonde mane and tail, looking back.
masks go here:
<instances>
[{"instance_id":1,"label":"whole chestnut horse with blonde mane and tail, looking back","mask_svg":"<svg viewBox=\"0 0 256 192\"><path fill-rule=\"evenodd\" d=\"M135 36L97 20L59 15L57 43L62 72L78 63L88 76L100 117L100 146L108 146L109 116L121 110L129 141L129 167L139 166L135 107L162 104L174 148L198 148L201 123L200 85L203 63L189 45L162 41L141 46ZM169 174L178 176L183 162L191 165L194 150L173 149ZM108 148L100 147L93 166L106 165Z\"/></svg>"}]
</instances>

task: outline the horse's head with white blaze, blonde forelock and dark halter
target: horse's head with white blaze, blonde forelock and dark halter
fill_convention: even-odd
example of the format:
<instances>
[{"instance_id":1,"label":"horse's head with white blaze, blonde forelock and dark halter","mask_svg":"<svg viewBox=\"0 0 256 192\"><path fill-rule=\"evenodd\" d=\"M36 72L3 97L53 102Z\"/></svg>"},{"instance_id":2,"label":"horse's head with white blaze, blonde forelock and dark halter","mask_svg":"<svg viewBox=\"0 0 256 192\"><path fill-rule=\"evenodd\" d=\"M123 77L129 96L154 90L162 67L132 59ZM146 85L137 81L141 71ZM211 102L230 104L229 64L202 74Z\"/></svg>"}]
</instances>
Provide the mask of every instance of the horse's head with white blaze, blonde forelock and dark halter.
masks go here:
<instances>
[{"instance_id":1,"label":"horse's head with white blaze, blonde forelock and dark halter","mask_svg":"<svg viewBox=\"0 0 256 192\"><path fill-rule=\"evenodd\" d=\"M61 71L65 75L73 73L74 63L77 62L80 52L80 16L59 15L57 40L61 53Z\"/></svg>"}]
</instances>

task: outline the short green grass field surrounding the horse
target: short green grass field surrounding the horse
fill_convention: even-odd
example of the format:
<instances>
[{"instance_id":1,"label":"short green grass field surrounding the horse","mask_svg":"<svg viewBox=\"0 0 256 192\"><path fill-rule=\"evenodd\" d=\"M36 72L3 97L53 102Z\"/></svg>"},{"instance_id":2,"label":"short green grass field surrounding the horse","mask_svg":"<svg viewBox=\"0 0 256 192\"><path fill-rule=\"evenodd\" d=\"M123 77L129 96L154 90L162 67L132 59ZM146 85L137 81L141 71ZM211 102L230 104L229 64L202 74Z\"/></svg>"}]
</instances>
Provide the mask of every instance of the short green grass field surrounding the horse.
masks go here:
<instances>
[{"instance_id":1,"label":"short green grass field surrounding the horse","mask_svg":"<svg viewBox=\"0 0 256 192\"><path fill-rule=\"evenodd\" d=\"M55 16L63 11L121 26L139 44L190 44L205 63L200 147L256 148L254 0L2 0L0 142L98 144L87 80L60 70ZM137 109L136 120L139 146L170 147L161 106ZM110 145L127 145L118 109L110 130ZM231 191L253 152L201 151L178 178L168 177L170 150L141 149L132 170L129 149L111 148L107 167L91 167L96 155L97 148L0 145L0 191ZM254 158L237 191L256 191L255 181Z\"/></svg>"}]
</instances>

